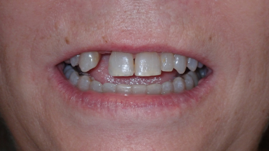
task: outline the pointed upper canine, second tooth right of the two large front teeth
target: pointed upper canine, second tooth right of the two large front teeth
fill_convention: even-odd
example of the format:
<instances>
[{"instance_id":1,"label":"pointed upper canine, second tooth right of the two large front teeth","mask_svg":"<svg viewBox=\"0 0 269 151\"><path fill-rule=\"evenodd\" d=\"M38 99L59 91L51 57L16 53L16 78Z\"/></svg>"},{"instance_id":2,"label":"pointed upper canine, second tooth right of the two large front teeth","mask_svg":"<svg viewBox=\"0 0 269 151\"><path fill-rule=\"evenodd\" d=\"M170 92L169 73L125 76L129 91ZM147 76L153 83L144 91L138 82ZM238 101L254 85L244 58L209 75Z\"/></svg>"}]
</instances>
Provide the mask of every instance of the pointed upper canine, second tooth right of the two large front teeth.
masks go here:
<instances>
[{"instance_id":1,"label":"pointed upper canine, second tooth right of the two large front teeth","mask_svg":"<svg viewBox=\"0 0 269 151\"><path fill-rule=\"evenodd\" d=\"M178 73L182 74L185 72L187 67L187 58L186 56L181 56L179 54L174 55L174 68Z\"/></svg>"}]
</instances>

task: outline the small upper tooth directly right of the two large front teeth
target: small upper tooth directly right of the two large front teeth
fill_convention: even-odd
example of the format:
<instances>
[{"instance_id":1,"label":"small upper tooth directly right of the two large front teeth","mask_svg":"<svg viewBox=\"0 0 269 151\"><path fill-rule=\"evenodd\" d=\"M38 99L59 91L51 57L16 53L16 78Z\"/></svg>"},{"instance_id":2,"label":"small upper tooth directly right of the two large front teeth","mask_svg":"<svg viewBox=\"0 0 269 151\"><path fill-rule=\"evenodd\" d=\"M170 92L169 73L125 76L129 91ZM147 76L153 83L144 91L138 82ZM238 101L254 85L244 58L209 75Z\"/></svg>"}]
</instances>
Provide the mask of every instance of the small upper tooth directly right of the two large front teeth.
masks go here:
<instances>
[{"instance_id":1,"label":"small upper tooth directly right of the two large front teeth","mask_svg":"<svg viewBox=\"0 0 269 151\"><path fill-rule=\"evenodd\" d=\"M174 55L172 53L161 53L161 71L172 71L174 65Z\"/></svg>"}]
</instances>

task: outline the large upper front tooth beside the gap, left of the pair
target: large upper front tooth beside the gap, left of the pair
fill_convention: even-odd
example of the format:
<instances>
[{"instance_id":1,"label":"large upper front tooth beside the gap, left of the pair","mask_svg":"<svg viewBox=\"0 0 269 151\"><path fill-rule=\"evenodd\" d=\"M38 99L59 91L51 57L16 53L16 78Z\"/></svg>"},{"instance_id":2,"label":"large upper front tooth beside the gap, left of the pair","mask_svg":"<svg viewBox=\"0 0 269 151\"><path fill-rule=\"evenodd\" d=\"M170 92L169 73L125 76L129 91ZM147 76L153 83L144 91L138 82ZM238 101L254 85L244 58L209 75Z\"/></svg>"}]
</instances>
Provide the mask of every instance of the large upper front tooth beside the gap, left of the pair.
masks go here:
<instances>
[{"instance_id":1,"label":"large upper front tooth beside the gap, left of the pair","mask_svg":"<svg viewBox=\"0 0 269 151\"><path fill-rule=\"evenodd\" d=\"M112 76L134 75L135 65L132 54L112 52L108 62L108 72Z\"/></svg>"}]
</instances>

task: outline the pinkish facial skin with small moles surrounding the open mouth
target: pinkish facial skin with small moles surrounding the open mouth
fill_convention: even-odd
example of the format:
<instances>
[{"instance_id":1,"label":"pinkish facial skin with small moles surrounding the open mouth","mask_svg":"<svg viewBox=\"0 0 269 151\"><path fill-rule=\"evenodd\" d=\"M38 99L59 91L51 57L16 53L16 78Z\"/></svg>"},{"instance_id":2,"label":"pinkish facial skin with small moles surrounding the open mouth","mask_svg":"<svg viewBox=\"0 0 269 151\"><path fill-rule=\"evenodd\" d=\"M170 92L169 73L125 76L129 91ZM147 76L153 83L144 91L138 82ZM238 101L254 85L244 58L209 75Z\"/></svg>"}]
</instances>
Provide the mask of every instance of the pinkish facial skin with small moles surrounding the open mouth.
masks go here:
<instances>
[{"instance_id":1,"label":"pinkish facial skin with small moles surrounding the open mouth","mask_svg":"<svg viewBox=\"0 0 269 151\"><path fill-rule=\"evenodd\" d=\"M269 111L269 1L1 0L0 8L0 108L18 150L257 150ZM115 94L119 106L90 108L59 70L83 51L159 46L212 70L190 90L195 101L131 107L124 102L141 97Z\"/></svg>"}]
</instances>

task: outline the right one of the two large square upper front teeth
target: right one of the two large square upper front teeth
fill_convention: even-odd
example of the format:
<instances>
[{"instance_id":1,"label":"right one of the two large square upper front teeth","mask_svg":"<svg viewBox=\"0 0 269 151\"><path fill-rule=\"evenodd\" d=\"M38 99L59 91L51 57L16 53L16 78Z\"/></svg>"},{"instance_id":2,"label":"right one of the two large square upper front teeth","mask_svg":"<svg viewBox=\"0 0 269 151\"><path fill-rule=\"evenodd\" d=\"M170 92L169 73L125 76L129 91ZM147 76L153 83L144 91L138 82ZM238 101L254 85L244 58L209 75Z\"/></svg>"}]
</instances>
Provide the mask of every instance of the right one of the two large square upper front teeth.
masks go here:
<instances>
[{"instance_id":1,"label":"right one of the two large square upper front teeth","mask_svg":"<svg viewBox=\"0 0 269 151\"><path fill-rule=\"evenodd\" d=\"M152 76L161 74L161 61L157 52L142 52L135 56L135 75Z\"/></svg>"}]
</instances>

